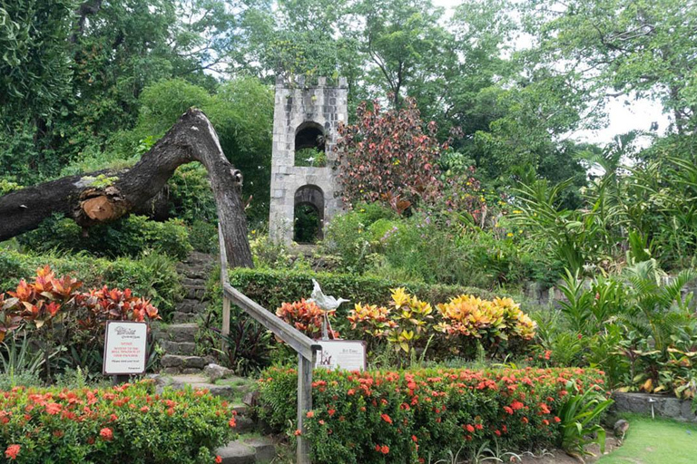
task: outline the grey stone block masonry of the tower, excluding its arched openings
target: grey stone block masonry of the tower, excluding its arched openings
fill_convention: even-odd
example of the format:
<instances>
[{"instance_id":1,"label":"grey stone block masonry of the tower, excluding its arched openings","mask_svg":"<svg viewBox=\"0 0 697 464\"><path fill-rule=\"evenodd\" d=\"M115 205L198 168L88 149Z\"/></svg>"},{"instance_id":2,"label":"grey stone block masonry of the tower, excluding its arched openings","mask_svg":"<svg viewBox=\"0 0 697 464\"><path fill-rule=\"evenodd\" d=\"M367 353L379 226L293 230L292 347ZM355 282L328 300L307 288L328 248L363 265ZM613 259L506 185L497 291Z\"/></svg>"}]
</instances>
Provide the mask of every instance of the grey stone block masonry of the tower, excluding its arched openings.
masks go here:
<instances>
[{"instance_id":1,"label":"grey stone block masonry of the tower, excluding its arched openings","mask_svg":"<svg viewBox=\"0 0 697 464\"><path fill-rule=\"evenodd\" d=\"M320 77L316 85L304 78L293 82L276 81L273 114L273 153L271 160L271 200L269 229L275 241L290 244L293 237L295 193L303 186L317 186L324 195L325 224L343 208L337 197L336 156L339 122L348 121L348 85L339 78L339 86L327 85ZM312 82L313 83L313 82ZM295 135L303 122L316 122L324 128L327 167L295 166ZM324 225L322 225L324 226Z\"/></svg>"}]
</instances>

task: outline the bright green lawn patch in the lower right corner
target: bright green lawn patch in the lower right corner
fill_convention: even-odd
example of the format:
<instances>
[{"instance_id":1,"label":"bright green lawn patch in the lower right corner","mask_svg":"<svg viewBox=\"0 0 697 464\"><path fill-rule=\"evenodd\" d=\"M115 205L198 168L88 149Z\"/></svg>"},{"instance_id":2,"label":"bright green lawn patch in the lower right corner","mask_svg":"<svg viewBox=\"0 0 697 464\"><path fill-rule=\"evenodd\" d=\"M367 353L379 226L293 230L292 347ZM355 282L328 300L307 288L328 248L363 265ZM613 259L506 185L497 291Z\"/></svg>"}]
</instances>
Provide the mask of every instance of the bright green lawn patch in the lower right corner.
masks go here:
<instances>
[{"instance_id":1,"label":"bright green lawn patch in the lower right corner","mask_svg":"<svg viewBox=\"0 0 697 464\"><path fill-rule=\"evenodd\" d=\"M630 416L624 444L598 464L697 463L697 425Z\"/></svg>"}]
</instances>

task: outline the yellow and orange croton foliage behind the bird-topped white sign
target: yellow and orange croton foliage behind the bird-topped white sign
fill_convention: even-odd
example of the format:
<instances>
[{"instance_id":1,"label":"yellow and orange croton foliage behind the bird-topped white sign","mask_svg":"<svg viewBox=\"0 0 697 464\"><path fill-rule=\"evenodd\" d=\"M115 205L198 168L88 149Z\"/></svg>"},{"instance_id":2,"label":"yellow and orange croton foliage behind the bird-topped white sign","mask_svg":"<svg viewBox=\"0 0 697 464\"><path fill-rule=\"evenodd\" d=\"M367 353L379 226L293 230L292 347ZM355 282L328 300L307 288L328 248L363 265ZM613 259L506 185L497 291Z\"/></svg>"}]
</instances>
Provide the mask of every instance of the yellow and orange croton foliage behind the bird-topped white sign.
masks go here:
<instances>
[{"instance_id":1,"label":"yellow and orange croton foliage behind the bird-topped white sign","mask_svg":"<svg viewBox=\"0 0 697 464\"><path fill-rule=\"evenodd\" d=\"M284 303L276 314L309 337L319 338L323 312L315 304L305 300ZM447 356L471 359L477 346L485 348L490 357L516 353L535 337L535 323L510 298L486 301L458 295L446 304L437 304L435 310L399 287L391 290L387 306L358 303L345 319L335 315L336 311L329 313L335 329L364 340L372 354L379 353L387 343L406 355L398 361L402 365L416 362L417 352L422 361L443 361ZM333 335L338 337L339 332ZM434 345L440 350L434 350Z\"/></svg>"}]
</instances>

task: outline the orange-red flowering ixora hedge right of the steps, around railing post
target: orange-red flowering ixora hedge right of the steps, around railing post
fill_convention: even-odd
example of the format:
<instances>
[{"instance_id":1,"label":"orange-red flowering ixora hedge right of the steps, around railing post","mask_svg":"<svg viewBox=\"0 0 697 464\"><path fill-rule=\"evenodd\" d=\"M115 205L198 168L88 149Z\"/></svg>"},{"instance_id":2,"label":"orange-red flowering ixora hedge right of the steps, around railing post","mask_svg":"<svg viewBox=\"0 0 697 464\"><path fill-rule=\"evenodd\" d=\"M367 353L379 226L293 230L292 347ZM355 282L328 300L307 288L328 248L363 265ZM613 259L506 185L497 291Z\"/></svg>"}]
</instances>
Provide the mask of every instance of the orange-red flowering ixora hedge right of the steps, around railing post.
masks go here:
<instances>
[{"instance_id":1,"label":"orange-red flowering ixora hedge right of the steps, around railing post","mask_svg":"<svg viewBox=\"0 0 697 464\"><path fill-rule=\"evenodd\" d=\"M561 439L565 397L604 385L604 372L571 368L319 370L315 376L306 419L313 459L368 464L435 462L494 440L507 449L549 447ZM288 427L295 417L289 395L296 391L294 369L263 372L262 418Z\"/></svg>"}]
</instances>

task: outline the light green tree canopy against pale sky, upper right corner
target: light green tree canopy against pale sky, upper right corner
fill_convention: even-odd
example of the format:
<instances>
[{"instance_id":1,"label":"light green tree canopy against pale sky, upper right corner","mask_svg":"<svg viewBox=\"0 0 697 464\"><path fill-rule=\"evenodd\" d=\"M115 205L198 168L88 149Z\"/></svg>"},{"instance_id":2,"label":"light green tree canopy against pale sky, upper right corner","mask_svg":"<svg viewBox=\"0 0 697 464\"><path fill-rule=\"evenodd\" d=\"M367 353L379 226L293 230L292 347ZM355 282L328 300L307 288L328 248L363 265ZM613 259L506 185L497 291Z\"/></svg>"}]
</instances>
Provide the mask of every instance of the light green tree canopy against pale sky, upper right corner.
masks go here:
<instances>
[{"instance_id":1,"label":"light green tree canopy against pale sky, upper right corner","mask_svg":"<svg viewBox=\"0 0 697 464\"><path fill-rule=\"evenodd\" d=\"M577 74L577 86L657 99L675 130L693 131L697 111L697 3L694 0L534 0L527 24L545 61Z\"/></svg>"}]
</instances>

